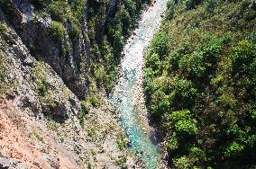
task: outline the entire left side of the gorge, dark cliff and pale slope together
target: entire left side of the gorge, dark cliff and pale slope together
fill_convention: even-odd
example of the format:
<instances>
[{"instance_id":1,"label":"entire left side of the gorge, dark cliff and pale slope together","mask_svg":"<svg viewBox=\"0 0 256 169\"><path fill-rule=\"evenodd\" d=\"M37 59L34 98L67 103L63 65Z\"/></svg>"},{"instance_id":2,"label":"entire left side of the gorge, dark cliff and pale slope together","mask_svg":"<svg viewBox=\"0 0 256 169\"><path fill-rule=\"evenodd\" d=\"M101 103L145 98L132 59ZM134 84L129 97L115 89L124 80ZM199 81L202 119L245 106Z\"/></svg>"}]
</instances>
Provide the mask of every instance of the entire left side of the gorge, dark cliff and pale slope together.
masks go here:
<instances>
[{"instance_id":1,"label":"entire left side of the gorge, dark cliff and pale slope together","mask_svg":"<svg viewBox=\"0 0 256 169\"><path fill-rule=\"evenodd\" d=\"M90 97L114 82L114 45L143 2L127 3L0 2L0 167L133 165L116 112Z\"/></svg>"}]
</instances>

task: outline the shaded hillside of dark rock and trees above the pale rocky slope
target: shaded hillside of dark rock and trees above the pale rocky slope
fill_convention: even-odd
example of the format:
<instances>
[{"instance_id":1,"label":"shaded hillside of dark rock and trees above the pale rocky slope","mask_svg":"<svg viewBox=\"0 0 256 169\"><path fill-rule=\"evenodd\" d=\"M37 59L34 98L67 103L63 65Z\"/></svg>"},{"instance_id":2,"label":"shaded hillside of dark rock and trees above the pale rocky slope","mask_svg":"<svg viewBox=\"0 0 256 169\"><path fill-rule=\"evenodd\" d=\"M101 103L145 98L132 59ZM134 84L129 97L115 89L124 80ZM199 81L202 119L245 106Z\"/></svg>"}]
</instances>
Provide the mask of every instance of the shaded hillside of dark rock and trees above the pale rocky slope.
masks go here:
<instances>
[{"instance_id":1,"label":"shaded hillside of dark rock and trees above the pale rocky slope","mask_svg":"<svg viewBox=\"0 0 256 169\"><path fill-rule=\"evenodd\" d=\"M0 6L32 57L48 63L84 98L89 85L110 92L124 40L146 2L2 0Z\"/></svg>"}]
</instances>

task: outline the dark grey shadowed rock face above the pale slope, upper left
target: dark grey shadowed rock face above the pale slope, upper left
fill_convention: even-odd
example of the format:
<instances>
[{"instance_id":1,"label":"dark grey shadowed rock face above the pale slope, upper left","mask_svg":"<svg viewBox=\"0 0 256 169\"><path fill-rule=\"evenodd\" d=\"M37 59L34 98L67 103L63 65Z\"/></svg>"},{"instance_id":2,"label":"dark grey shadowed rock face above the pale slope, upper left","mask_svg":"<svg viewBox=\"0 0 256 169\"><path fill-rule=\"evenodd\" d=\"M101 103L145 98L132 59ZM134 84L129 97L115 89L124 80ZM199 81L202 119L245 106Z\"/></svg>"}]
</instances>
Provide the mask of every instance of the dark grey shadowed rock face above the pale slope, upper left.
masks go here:
<instances>
[{"instance_id":1,"label":"dark grey shadowed rock face above the pale slope, upper left","mask_svg":"<svg viewBox=\"0 0 256 169\"><path fill-rule=\"evenodd\" d=\"M70 24L65 21L63 34L60 35L62 37L56 41L50 36L50 24L53 20L49 13L41 16L44 11L36 10L31 1L5 1L4 3L2 5L7 22L14 27L32 56L48 63L73 93L83 97L87 91L86 74L90 51L86 10L82 16L84 25L81 26L78 38L70 40ZM81 64L84 62L86 66L81 69Z\"/></svg>"}]
</instances>

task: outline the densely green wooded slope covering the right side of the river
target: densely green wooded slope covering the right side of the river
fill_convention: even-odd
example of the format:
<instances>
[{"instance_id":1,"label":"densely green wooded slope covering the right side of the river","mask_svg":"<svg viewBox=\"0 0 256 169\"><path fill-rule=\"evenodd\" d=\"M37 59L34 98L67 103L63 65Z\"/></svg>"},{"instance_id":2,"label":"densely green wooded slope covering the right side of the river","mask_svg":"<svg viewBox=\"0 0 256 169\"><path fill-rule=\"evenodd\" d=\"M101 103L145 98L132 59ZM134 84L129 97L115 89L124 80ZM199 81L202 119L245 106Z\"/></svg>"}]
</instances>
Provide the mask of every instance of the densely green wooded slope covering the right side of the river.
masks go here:
<instances>
[{"instance_id":1,"label":"densely green wooded slope covering the right side of the river","mask_svg":"<svg viewBox=\"0 0 256 169\"><path fill-rule=\"evenodd\" d=\"M169 1L144 92L172 167L256 165L255 25L251 0Z\"/></svg>"}]
</instances>

